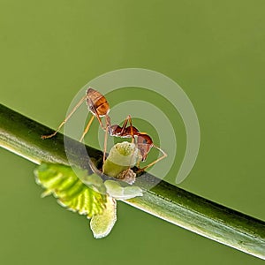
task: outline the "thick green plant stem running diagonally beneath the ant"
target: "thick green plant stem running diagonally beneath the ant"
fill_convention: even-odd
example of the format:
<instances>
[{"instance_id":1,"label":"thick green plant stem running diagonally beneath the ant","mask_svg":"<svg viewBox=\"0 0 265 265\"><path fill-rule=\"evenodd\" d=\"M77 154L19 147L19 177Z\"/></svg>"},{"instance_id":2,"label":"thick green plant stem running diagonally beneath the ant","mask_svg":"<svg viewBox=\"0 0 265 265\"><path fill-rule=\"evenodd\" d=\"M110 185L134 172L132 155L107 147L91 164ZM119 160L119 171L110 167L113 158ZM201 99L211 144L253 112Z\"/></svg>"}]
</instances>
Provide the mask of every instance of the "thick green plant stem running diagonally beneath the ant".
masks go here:
<instances>
[{"instance_id":1,"label":"thick green plant stem running diagonally beneath the ant","mask_svg":"<svg viewBox=\"0 0 265 265\"><path fill-rule=\"evenodd\" d=\"M24 117L0 105L0 146L21 155L34 163L51 162L68 164L64 152L64 136L42 140L41 135L52 132L48 127ZM83 154L82 144L71 140L73 162L86 167L88 161ZM102 161L102 152L87 147L87 153L97 165ZM146 174L142 181L155 181ZM177 186L161 181L143 197L125 201L170 223L177 224L189 231L196 232L208 239L234 247L247 254L265 260L265 223L252 216L246 216L231 208L226 208L189 193Z\"/></svg>"}]
</instances>

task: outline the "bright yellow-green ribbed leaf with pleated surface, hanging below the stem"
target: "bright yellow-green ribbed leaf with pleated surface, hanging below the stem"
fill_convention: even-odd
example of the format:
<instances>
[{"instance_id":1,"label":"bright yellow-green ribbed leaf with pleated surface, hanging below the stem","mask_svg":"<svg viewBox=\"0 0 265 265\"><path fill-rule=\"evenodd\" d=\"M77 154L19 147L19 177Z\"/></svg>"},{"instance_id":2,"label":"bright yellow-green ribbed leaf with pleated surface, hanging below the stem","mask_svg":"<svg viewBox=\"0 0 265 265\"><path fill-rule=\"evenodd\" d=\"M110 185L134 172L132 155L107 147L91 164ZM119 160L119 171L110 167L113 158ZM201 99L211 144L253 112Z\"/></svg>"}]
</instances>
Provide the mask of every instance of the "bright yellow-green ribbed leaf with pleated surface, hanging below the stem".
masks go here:
<instances>
[{"instance_id":1,"label":"bright yellow-green ribbed leaf with pleated surface, hanging below the stem","mask_svg":"<svg viewBox=\"0 0 265 265\"><path fill-rule=\"evenodd\" d=\"M74 171L87 178L87 170L75 168ZM36 182L46 189L44 195L53 194L60 205L87 218L102 214L107 196L83 184L74 171L62 164L42 163L34 170L34 175ZM98 183L96 185L99 186Z\"/></svg>"}]
</instances>

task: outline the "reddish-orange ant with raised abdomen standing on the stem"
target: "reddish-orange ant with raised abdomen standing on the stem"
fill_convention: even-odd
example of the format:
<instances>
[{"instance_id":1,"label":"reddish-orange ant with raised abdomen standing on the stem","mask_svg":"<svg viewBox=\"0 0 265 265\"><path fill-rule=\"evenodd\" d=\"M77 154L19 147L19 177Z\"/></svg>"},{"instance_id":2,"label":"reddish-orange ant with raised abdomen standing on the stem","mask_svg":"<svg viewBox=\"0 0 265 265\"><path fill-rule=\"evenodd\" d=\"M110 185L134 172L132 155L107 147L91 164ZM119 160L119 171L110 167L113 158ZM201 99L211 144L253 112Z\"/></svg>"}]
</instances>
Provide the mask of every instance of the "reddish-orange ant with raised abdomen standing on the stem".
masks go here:
<instances>
[{"instance_id":1,"label":"reddish-orange ant with raised abdomen standing on the stem","mask_svg":"<svg viewBox=\"0 0 265 265\"><path fill-rule=\"evenodd\" d=\"M119 125L111 125L110 123L110 116L108 115L110 112L110 105L109 102L106 100L106 98L96 91L95 89L89 87L87 89L86 95L84 95L80 101L74 106L74 108L71 110L71 112L68 114L67 117L65 117L64 121L58 126L57 130L49 135L42 135L42 139L47 139L55 136L58 131L63 127L63 125L67 122L67 120L72 116L72 114L79 108L79 106L84 102L87 101L87 107L88 110L93 114L93 116L90 118L89 122L87 123L87 126L80 138L79 141L82 141L87 134L90 125L92 124L94 118L96 117L99 124L102 127L102 130L105 132L105 139L104 139L104 152L103 152L103 163L105 162L106 158L106 151L107 151L107 138L108 133L110 133L110 136L116 136L121 138L132 138L132 142L134 142L135 137L137 138L136 147L140 150L140 155L142 157L141 161L145 161L147 159L148 153L151 148L158 149L163 155L159 158L157 158L154 162L149 163L144 168L140 169L139 164L137 165L139 170L146 170L150 166L154 165L155 163L162 160L164 157L167 156L167 154L161 149L154 145L153 140L147 133L140 133L140 131L133 126L132 118L129 115L126 117L124 124L121 126ZM102 124L101 117L105 118L105 125ZM128 125L127 126L127 124Z\"/></svg>"}]
</instances>

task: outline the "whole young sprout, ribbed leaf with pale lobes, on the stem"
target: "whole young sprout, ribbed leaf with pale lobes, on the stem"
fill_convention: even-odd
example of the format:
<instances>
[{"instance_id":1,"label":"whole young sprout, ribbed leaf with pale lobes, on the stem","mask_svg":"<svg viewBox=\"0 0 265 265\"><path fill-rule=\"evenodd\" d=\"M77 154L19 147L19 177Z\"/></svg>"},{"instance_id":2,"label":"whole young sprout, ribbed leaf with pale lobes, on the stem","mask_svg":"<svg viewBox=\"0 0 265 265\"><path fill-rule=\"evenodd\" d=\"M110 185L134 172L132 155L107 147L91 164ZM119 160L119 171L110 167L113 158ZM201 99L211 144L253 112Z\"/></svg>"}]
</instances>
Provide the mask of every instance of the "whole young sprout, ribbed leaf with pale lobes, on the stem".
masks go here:
<instances>
[{"instance_id":1,"label":"whole young sprout, ribbed leaf with pale lobes, on the stem","mask_svg":"<svg viewBox=\"0 0 265 265\"><path fill-rule=\"evenodd\" d=\"M123 149L119 150L124 151L125 157L120 157L125 158L127 163L132 161L130 157L127 157L131 151L136 154L133 155L134 162L135 156L137 156L137 152L131 145L130 143L125 145L126 152ZM124 146L118 146L118 148L122 147ZM106 169L108 166L107 164ZM120 165L114 167L118 167L120 170ZM128 165L122 167L126 169L126 173L118 178L125 179L125 182L132 181L132 179L134 181L133 170L129 170L129 173L132 171L134 174L134 178L131 178L132 174L127 172ZM115 169L112 169L113 171ZM90 228L95 239L106 237L116 223L116 199L127 200L142 196L142 190L138 186L128 186L125 183L121 186L120 182L115 180L103 182L102 178L96 174L87 175L87 170L71 168L63 164L42 163L34 170L34 175L36 182L45 188L42 197L53 194L60 205L91 218Z\"/></svg>"}]
</instances>

